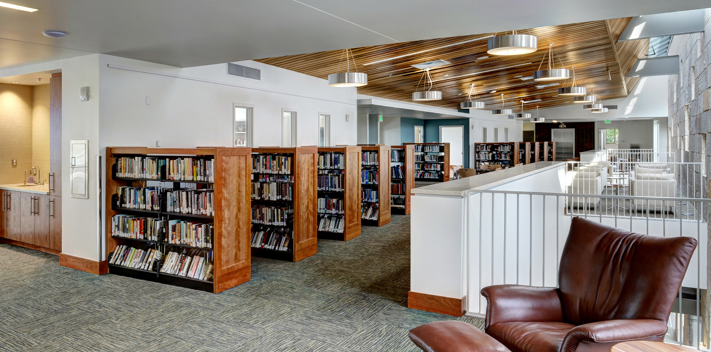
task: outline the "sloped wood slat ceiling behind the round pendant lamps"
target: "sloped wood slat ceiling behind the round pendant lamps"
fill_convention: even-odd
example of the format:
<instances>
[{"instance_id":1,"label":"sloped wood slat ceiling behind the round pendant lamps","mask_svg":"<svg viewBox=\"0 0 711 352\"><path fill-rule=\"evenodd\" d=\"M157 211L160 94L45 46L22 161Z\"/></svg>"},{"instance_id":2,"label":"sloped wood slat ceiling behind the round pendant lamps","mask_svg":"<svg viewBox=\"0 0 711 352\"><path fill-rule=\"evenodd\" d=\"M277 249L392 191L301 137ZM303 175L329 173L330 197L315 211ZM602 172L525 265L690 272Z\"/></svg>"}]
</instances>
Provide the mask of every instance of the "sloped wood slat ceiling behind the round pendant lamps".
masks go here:
<instances>
[{"instance_id":1,"label":"sloped wood slat ceiling behind the round pendant lamps","mask_svg":"<svg viewBox=\"0 0 711 352\"><path fill-rule=\"evenodd\" d=\"M514 111L520 111L520 102L518 102L520 100L542 99L542 101L526 104L525 109L529 111L535 110L537 105L540 106L540 109L545 109L572 104L572 97L557 97L557 88L570 86L570 80L558 81L559 86L537 89L536 85L549 82L535 82L533 79L522 81L515 78L518 75L523 75L523 77L533 75L533 72L538 70L542 57L547 51L547 45L555 43L555 59L560 59L555 62L556 68L562 67L560 62L565 67L574 66L576 82L582 84L587 80L589 92L594 89L602 99L626 97L638 78L625 79L624 76L637 58L645 57L648 50L648 39L617 43L617 38L629 23L629 19L616 18L606 21L520 30L518 33L530 33L538 37L538 51L527 55L488 55L486 53L486 39L432 50L440 46L497 33L353 48L353 57L355 57L358 72L368 74L368 85L358 87L358 93L412 101L412 92L415 92L424 70L411 67L411 65L441 59L447 60L451 64L434 67L430 70L430 74L437 84L437 89L442 91L442 100L424 101L423 104L459 109L459 103L466 100L471 83L476 84L479 97L486 101L485 109L488 110L501 107L501 93L506 99L506 107L516 108ZM422 50L429 51L407 55ZM407 56L365 65L400 55ZM483 56L489 57L477 60L478 57ZM256 61L323 79L328 79L328 75L331 73L346 71L343 50L269 57ZM547 62L543 65L545 67ZM491 71L476 73L489 70ZM475 74L471 75L472 73ZM418 90L422 90L422 86ZM496 90L496 93L489 93L492 90Z\"/></svg>"}]
</instances>

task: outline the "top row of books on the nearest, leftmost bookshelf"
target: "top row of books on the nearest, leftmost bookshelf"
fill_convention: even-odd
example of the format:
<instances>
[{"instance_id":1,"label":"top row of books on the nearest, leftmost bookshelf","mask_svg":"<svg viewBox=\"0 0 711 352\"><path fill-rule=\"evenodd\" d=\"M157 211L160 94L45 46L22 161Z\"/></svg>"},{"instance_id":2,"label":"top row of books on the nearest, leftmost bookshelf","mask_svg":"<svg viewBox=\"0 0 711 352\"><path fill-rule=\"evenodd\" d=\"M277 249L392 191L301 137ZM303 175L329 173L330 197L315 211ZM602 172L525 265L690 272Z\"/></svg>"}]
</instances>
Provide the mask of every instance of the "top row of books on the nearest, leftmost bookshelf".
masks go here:
<instances>
[{"instance_id":1,"label":"top row of books on the nearest, leftmost bookshelf","mask_svg":"<svg viewBox=\"0 0 711 352\"><path fill-rule=\"evenodd\" d=\"M165 169L165 176L161 175L163 169ZM121 157L116 160L116 177L214 182L215 160L144 156Z\"/></svg>"}]
</instances>

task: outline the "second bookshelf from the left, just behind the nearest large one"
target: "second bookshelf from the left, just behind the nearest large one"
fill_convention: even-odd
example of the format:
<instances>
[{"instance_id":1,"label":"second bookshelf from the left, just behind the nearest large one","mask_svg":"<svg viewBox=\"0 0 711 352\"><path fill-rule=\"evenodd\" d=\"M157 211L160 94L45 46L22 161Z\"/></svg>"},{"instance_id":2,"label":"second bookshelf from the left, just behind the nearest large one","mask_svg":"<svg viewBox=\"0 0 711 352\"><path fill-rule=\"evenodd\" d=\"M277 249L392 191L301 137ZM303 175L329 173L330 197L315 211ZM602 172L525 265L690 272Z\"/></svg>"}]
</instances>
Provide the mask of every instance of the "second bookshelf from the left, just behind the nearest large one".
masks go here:
<instances>
[{"instance_id":1,"label":"second bookshelf from the left, just behind the nearest large one","mask_svg":"<svg viewBox=\"0 0 711 352\"><path fill-rule=\"evenodd\" d=\"M252 256L316 254L318 163L316 147L252 148Z\"/></svg>"}]
</instances>

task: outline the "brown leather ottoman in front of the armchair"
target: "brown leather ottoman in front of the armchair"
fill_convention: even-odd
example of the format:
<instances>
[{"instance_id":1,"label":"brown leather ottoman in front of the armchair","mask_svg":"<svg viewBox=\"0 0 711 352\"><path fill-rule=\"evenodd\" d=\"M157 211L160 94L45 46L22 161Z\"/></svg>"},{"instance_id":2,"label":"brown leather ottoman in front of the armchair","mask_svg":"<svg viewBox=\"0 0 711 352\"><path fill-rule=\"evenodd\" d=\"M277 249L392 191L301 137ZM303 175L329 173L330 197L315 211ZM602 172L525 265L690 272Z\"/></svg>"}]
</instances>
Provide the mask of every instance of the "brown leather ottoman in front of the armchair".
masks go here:
<instances>
[{"instance_id":1,"label":"brown leather ottoman in front of the armchair","mask_svg":"<svg viewBox=\"0 0 711 352\"><path fill-rule=\"evenodd\" d=\"M464 321L437 321L410 330L410 340L427 352L511 352Z\"/></svg>"}]
</instances>

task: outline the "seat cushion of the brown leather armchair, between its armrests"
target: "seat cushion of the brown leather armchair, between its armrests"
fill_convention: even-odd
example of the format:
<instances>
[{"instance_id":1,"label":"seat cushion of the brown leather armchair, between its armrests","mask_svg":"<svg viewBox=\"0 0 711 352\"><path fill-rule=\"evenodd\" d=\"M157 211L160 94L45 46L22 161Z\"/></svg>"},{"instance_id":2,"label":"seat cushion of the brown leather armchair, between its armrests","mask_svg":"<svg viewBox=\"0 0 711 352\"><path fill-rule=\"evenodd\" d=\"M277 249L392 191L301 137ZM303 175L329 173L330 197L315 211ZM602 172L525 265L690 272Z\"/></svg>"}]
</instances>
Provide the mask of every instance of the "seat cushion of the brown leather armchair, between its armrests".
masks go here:
<instances>
[{"instance_id":1,"label":"seat cushion of the brown leather armchair, between its armrests","mask_svg":"<svg viewBox=\"0 0 711 352\"><path fill-rule=\"evenodd\" d=\"M513 352L558 352L568 331L574 327L557 321L512 321L493 324L486 334Z\"/></svg>"}]
</instances>

